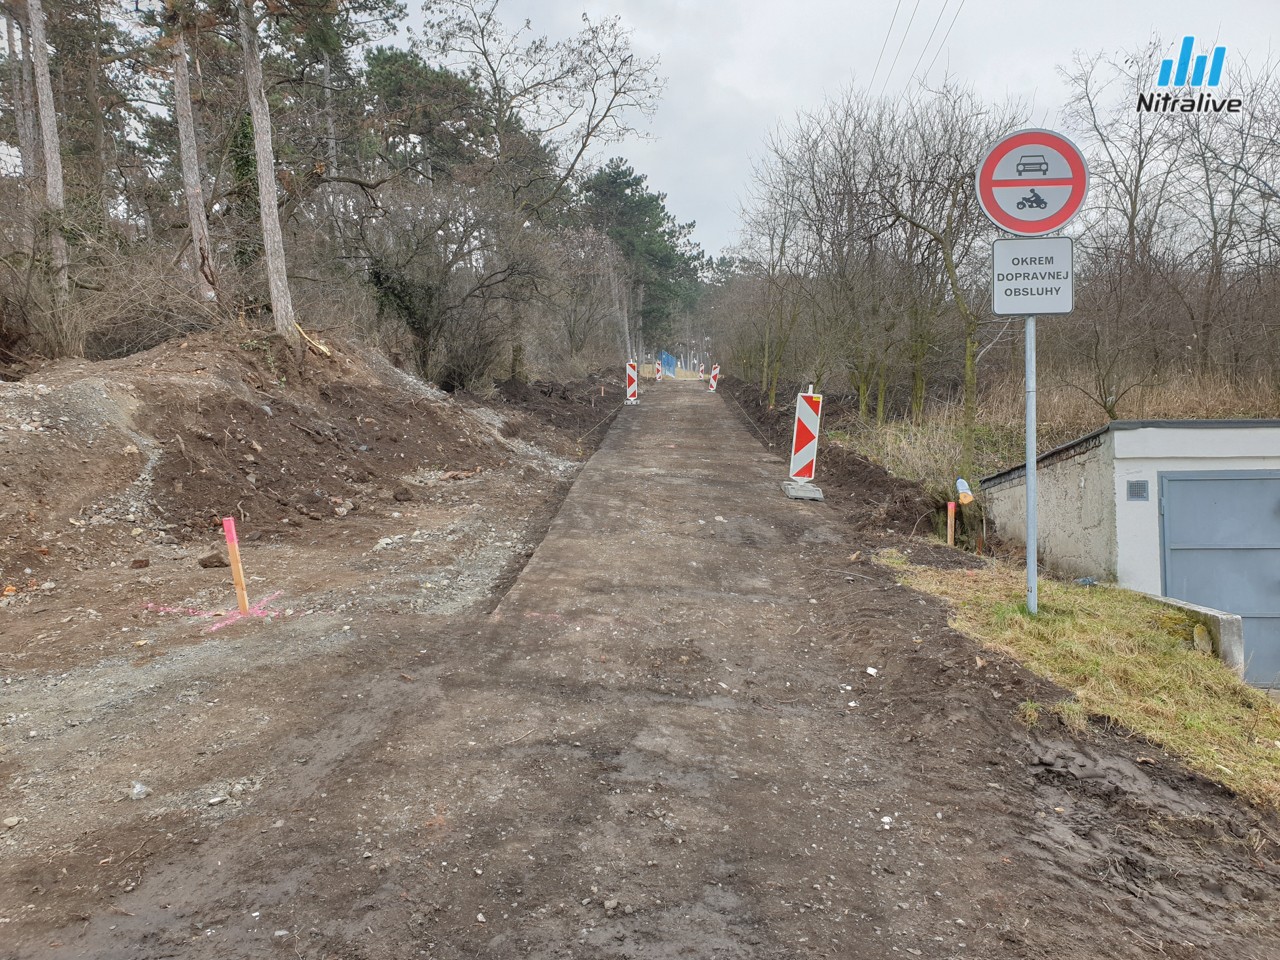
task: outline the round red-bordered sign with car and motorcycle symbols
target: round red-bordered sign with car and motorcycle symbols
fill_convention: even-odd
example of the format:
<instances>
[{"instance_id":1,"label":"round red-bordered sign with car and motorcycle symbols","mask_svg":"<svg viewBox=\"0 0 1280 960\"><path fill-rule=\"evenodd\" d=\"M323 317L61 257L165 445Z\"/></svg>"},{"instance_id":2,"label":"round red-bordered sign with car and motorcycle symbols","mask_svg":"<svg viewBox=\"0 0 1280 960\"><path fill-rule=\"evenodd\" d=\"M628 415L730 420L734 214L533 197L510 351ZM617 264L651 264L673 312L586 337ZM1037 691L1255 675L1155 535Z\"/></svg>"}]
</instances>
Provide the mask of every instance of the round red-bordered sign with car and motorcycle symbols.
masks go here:
<instances>
[{"instance_id":1,"label":"round red-bordered sign with car and motorcycle symbols","mask_svg":"<svg viewBox=\"0 0 1280 960\"><path fill-rule=\"evenodd\" d=\"M1089 189L1080 148L1053 131L1016 131L978 164L978 202L996 227L1039 237L1064 227Z\"/></svg>"}]
</instances>

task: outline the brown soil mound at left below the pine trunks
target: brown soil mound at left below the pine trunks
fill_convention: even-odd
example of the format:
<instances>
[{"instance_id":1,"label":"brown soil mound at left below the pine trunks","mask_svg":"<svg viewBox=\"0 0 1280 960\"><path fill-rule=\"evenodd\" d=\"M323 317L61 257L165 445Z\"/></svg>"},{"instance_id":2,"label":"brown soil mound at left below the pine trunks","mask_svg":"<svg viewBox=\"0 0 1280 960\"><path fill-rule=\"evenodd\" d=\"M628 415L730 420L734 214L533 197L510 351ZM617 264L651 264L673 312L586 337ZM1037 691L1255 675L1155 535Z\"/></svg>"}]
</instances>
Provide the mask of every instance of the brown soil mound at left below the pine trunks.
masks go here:
<instances>
[{"instance_id":1,"label":"brown soil mound at left below the pine trunks","mask_svg":"<svg viewBox=\"0 0 1280 960\"><path fill-rule=\"evenodd\" d=\"M500 419L477 417L479 398L451 399L374 355L330 346L330 357L298 364L274 338L206 334L0 387L0 524L10 531L0 579L99 550L204 541L225 516L251 536L278 536L385 513L412 497L413 477L504 466L506 438L589 453L602 434L589 431L616 407L594 381L553 394L507 384ZM50 545L68 535L73 547Z\"/></svg>"}]
</instances>

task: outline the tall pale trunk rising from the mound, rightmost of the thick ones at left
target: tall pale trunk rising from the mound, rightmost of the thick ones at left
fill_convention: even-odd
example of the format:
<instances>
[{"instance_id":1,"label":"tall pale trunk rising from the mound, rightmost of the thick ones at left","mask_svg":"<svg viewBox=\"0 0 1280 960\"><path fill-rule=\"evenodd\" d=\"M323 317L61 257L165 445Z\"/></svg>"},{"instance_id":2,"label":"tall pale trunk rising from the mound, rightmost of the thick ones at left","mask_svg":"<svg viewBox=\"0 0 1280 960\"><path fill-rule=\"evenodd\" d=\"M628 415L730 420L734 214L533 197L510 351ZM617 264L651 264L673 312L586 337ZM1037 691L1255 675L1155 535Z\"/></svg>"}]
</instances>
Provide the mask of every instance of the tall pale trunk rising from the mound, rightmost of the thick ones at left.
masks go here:
<instances>
[{"instance_id":1,"label":"tall pale trunk rising from the mound, rightmost of the thick ones at left","mask_svg":"<svg viewBox=\"0 0 1280 960\"><path fill-rule=\"evenodd\" d=\"M257 161L257 209L262 221L262 257L266 261L266 283L271 293L275 330L301 351L302 338L293 320L293 297L284 261L284 237L280 233L280 210L275 201L275 152L271 148L271 110L262 86L262 56L257 47L257 24L253 0L239 4L241 49L244 51L244 84L248 91L248 113L253 120L253 156Z\"/></svg>"}]
</instances>

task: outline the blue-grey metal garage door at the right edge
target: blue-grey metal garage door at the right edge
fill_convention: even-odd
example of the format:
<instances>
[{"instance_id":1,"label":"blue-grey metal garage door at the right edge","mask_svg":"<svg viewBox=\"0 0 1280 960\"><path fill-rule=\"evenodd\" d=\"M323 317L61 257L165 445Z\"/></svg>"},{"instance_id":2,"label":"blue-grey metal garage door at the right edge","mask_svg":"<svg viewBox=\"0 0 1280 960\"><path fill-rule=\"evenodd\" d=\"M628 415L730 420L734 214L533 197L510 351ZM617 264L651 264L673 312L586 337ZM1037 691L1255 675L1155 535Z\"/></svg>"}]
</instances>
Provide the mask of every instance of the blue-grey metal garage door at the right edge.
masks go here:
<instances>
[{"instance_id":1,"label":"blue-grey metal garage door at the right edge","mask_svg":"<svg viewBox=\"0 0 1280 960\"><path fill-rule=\"evenodd\" d=\"M1280 686L1280 472L1160 475L1165 596L1244 618L1245 680Z\"/></svg>"}]
</instances>

